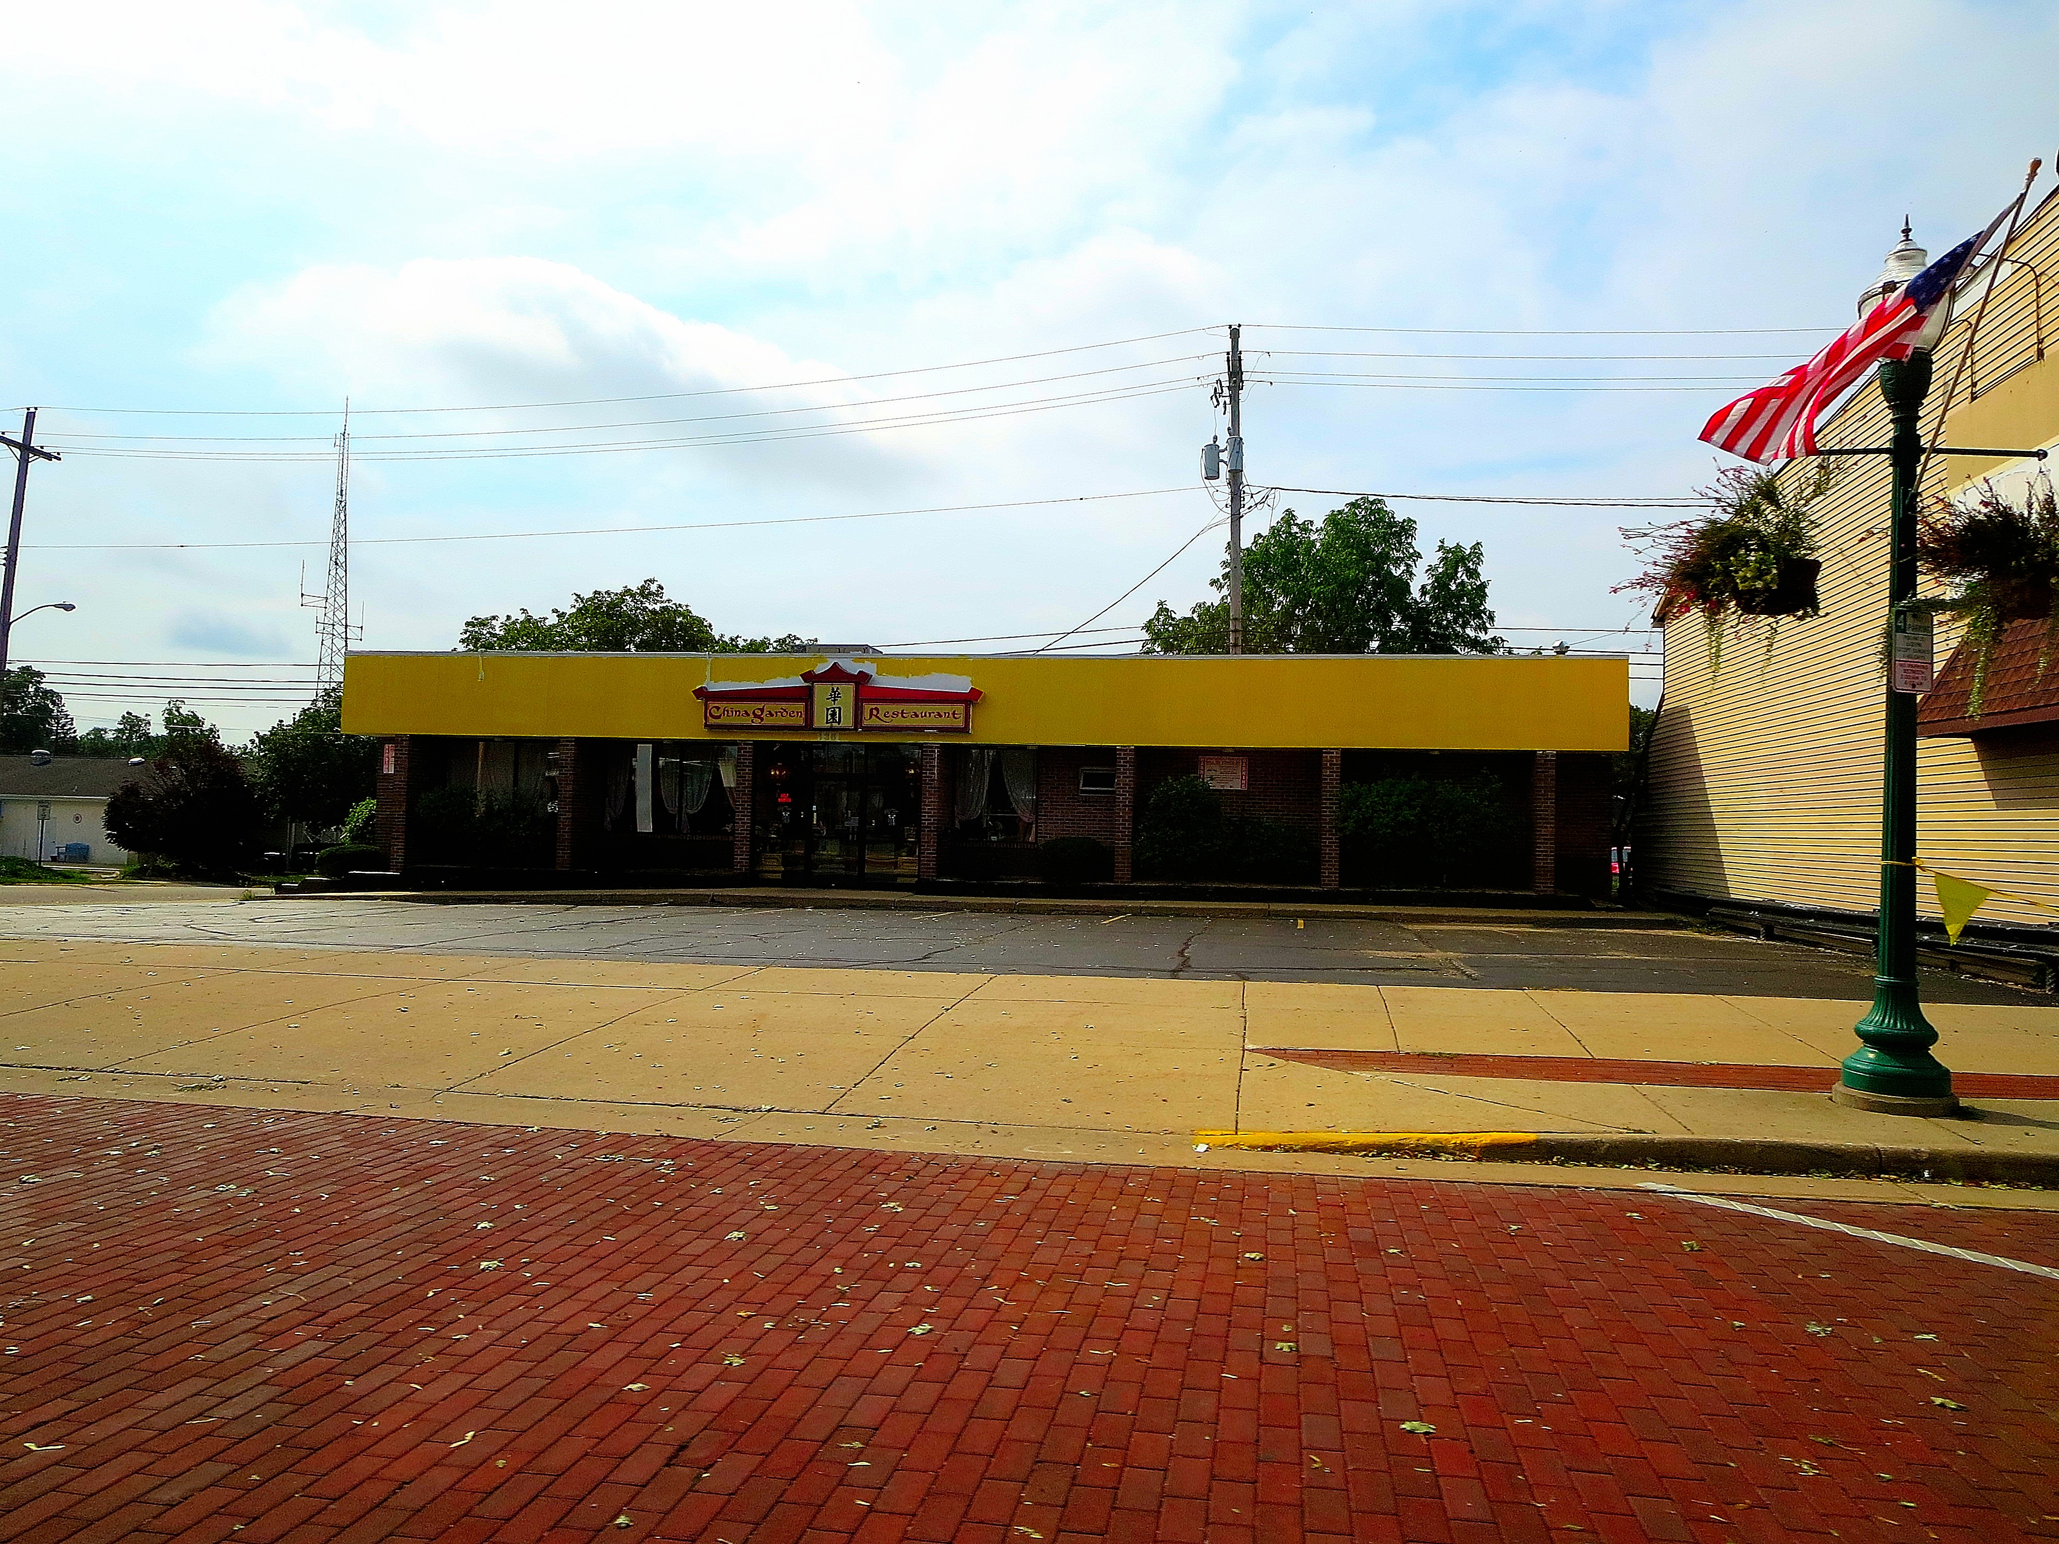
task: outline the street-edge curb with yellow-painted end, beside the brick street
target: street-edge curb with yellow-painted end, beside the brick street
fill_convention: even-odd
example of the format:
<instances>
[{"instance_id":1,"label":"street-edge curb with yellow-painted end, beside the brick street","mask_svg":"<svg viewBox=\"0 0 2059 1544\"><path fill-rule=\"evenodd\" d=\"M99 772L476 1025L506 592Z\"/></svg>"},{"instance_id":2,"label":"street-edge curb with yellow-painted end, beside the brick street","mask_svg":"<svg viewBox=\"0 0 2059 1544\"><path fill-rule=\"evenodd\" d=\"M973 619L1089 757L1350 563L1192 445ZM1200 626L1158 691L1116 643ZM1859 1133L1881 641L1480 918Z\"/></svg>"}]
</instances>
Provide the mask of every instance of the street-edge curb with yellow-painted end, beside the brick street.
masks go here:
<instances>
[{"instance_id":1,"label":"street-edge curb with yellow-painted end, beside the brick street","mask_svg":"<svg viewBox=\"0 0 2059 1544\"><path fill-rule=\"evenodd\" d=\"M1798 1143L1769 1136L1660 1136L1645 1132L1194 1132L1196 1149L1351 1153L1361 1157L1491 1157L1497 1163L1592 1163L1612 1169L1728 1169L1736 1173L1960 1180L2055 1186L2059 1153L1958 1147Z\"/></svg>"}]
</instances>

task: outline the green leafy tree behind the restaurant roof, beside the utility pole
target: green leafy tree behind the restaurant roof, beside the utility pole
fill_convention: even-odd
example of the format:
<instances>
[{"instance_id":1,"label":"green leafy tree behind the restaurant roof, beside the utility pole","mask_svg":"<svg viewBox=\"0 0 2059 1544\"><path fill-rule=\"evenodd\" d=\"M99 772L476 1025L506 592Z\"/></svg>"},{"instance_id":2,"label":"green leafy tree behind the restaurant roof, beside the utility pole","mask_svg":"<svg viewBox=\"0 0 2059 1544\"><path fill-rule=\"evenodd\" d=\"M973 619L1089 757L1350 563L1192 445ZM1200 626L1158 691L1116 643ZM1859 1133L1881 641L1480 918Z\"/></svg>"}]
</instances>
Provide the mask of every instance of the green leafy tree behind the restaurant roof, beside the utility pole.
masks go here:
<instances>
[{"instance_id":1,"label":"green leafy tree behind the restaurant roof, beside the utility pole","mask_svg":"<svg viewBox=\"0 0 2059 1544\"><path fill-rule=\"evenodd\" d=\"M1478 541L1439 541L1425 566L1417 523L1353 498L1322 523L1287 511L1244 552L1244 646L1254 655L1499 653ZM1421 570L1421 583L1417 572ZM1229 653L1229 558L1209 585L1225 599L1180 616L1159 601L1145 653Z\"/></svg>"}]
</instances>

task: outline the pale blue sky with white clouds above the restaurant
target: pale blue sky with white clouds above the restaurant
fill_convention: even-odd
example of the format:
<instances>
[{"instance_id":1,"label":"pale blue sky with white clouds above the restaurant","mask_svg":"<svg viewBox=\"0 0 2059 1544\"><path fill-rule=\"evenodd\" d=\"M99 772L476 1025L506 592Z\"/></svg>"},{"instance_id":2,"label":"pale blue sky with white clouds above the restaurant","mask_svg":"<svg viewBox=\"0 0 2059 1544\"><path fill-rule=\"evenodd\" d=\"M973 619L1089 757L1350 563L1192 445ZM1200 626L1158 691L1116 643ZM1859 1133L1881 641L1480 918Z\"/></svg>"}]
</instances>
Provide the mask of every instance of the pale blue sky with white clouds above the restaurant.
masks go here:
<instances>
[{"instance_id":1,"label":"pale blue sky with white clouds above the restaurant","mask_svg":"<svg viewBox=\"0 0 2059 1544\"><path fill-rule=\"evenodd\" d=\"M1128 648L1221 560L1227 323L1258 486L1674 498L1719 461L1703 418L1847 325L1905 212L1942 251L2059 138L2036 0L10 29L0 416L37 403L64 453L16 613L78 607L14 659L80 725L183 696L235 737L305 700L346 399L364 648L647 576L721 632L1102 613L1062 642ZM1606 630L1647 620L1618 527L1666 515L1396 508L1485 543L1511 640L1651 646Z\"/></svg>"}]
</instances>

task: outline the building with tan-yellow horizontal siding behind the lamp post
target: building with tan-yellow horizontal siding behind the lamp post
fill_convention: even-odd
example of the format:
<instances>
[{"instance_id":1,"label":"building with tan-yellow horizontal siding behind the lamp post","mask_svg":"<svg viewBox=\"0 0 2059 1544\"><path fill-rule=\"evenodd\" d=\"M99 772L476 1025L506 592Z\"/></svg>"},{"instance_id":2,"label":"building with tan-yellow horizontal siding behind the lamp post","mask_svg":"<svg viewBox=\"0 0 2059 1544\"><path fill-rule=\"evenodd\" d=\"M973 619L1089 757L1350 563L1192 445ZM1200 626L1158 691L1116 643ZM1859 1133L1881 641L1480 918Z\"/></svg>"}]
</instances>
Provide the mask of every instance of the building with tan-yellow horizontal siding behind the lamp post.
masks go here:
<instances>
[{"instance_id":1,"label":"building with tan-yellow horizontal siding behind the lamp post","mask_svg":"<svg viewBox=\"0 0 2059 1544\"><path fill-rule=\"evenodd\" d=\"M1987 284L1993 294L1962 364ZM2059 194L2024 216L1999 272L1989 261L1962 290L1933 354L1925 443L2059 449L2053 327ZM1861 385L1820 441L1886 445L1880 389ZM1888 463L1839 461L1843 476L1818 506L1820 616L1725 628L1719 659L1701 616L1664 620L1666 694L1637 838L1639 885L1662 898L1878 906ZM1933 457L1923 492L1954 496L1981 480L2020 490L2034 476L2032 459ZM1923 593L1942 587L1925 578ZM1954 644L1956 624L1944 616L1940 667ZM1917 852L1977 883L2059 904L2059 706L1997 702L1991 692L1987 708L1973 733L1962 721L1946 725L1952 714L1921 714ZM1929 885L1919 885L1919 900L1938 914ZM2053 918L1997 900L1981 920Z\"/></svg>"}]
</instances>

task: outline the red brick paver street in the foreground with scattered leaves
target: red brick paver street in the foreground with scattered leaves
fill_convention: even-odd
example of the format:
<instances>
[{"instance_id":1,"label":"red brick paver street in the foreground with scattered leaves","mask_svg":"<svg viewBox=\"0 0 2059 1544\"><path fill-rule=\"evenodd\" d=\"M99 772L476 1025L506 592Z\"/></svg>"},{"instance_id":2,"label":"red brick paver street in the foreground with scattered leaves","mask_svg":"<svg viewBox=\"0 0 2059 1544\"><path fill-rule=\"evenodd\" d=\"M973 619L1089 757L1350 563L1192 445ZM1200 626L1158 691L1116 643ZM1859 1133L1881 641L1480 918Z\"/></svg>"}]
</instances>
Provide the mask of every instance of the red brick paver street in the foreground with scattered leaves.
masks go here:
<instances>
[{"instance_id":1,"label":"red brick paver street in the foreground with scattered leaves","mask_svg":"<svg viewBox=\"0 0 2059 1544\"><path fill-rule=\"evenodd\" d=\"M2055 1283L1666 1196L0 1120L25 1544L2059 1538Z\"/></svg>"}]
</instances>

